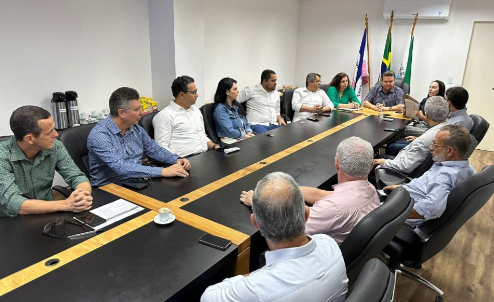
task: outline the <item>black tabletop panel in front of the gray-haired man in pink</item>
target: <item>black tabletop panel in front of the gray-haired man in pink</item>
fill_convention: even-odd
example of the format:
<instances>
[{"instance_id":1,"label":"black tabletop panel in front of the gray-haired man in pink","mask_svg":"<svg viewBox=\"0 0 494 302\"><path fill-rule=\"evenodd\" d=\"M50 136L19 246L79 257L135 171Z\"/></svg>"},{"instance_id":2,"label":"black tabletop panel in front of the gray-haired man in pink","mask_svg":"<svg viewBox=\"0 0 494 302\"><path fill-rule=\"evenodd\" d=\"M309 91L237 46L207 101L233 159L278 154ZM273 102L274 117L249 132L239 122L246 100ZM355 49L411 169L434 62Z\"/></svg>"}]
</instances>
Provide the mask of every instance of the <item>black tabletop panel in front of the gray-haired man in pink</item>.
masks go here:
<instances>
[{"instance_id":1,"label":"black tabletop panel in front of the gray-haired man in pink","mask_svg":"<svg viewBox=\"0 0 494 302\"><path fill-rule=\"evenodd\" d=\"M275 171L290 174L301 186L319 187L336 174L334 157L342 140L359 136L379 146L395 135L382 128L402 128L405 124L403 120L383 122L377 116L367 117L181 208L252 236L257 230L250 220L251 208L239 201L242 190L254 189L263 176Z\"/></svg>"}]
</instances>

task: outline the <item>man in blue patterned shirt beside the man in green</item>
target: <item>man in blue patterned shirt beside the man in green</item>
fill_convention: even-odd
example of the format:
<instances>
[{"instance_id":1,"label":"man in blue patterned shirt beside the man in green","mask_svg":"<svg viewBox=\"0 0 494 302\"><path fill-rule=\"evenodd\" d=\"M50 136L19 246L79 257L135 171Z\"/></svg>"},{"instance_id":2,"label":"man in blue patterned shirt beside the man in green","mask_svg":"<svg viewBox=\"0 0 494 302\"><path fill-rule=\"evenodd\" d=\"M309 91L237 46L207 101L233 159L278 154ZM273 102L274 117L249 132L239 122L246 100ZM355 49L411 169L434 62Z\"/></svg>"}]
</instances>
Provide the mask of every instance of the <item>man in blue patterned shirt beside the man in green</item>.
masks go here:
<instances>
[{"instance_id":1,"label":"man in blue patterned shirt beside the man in green","mask_svg":"<svg viewBox=\"0 0 494 302\"><path fill-rule=\"evenodd\" d=\"M91 130L89 173L92 186L125 178L188 176L188 160L161 148L137 123L144 113L135 89L121 87L110 97L110 115ZM141 165L143 154L171 165L167 168Z\"/></svg>"}]
</instances>

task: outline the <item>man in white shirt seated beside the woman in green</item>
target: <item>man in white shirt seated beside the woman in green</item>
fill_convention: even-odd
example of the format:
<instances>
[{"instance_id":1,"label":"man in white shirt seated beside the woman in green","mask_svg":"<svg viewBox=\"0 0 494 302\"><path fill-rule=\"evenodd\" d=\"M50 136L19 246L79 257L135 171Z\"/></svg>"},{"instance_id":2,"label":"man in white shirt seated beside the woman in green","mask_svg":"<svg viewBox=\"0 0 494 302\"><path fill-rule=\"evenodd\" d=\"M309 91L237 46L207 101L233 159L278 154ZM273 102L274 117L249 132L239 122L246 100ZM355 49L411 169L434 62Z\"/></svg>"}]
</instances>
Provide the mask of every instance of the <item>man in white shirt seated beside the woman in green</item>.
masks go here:
<instances>
[{"instance_id":1,"label":"man in white shirt seated beside the woman in green","mask_svg":"<svg viewBox=\"0 0 494 302\"><path fill-rule=\"evenodd\" d=\"M321 75L311 72L305 79L305 87L295 89L292 97L294 122L335 108L326 92L319 89L320 84Z\"/></svg>"}]
</instances>

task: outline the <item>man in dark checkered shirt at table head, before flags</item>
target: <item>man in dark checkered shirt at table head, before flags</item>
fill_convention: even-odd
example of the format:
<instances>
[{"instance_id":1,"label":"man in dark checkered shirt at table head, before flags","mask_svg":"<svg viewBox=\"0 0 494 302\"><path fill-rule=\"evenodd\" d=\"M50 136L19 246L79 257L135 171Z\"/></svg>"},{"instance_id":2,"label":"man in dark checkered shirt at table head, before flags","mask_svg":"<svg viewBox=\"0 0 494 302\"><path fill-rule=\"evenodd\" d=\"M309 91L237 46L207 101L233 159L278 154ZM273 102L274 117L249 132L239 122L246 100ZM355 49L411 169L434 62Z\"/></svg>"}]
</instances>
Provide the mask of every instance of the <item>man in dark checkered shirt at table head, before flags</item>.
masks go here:
<instances>
[{"instance_id":1,"label":"man in dark checkered shirt at table head, before flags","mask_svg":"<svg viewBox=\"0 0 494 302\"><path fill-rule=\"evenodd\" d=\"M371 88L365 97L364 107L375 111L401 111L403 90L394 86L395 74L388 70L382 75L381 84Z\"/></svg>"}]
</instances>

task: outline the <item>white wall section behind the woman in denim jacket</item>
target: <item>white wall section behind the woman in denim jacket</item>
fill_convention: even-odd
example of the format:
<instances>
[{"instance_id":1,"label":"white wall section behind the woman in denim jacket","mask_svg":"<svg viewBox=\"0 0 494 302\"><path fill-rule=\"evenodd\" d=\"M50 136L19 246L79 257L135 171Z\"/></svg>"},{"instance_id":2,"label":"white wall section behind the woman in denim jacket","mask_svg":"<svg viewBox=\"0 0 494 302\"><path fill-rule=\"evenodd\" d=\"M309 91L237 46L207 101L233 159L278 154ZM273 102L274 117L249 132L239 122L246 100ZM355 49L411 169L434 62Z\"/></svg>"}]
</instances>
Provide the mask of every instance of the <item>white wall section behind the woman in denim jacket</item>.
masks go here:
<instances>
[{"instance_id":1,"label":"white wall section behind the woman in denim jacket","mask_svg":"<svg viewBox=\"0 0 494 302\"><path fill-rule=\"evenodd\" d=\"M280 86L293 82L298 0L176 0L174 11L176 73L194 78L197 106L224 77L245 87L273 69Z\"/></svg>"}]
</instances>

